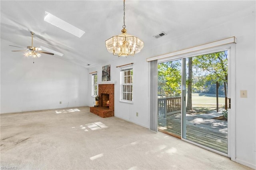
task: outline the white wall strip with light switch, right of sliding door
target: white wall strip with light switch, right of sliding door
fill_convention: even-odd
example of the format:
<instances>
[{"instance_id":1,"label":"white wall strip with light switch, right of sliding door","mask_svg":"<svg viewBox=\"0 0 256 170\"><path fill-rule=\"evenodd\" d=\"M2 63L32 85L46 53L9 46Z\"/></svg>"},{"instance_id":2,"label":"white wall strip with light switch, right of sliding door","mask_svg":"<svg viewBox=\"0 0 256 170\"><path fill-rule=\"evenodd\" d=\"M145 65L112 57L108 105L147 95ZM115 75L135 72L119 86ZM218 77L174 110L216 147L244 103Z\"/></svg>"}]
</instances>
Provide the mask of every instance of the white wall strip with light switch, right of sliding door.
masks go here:
<instances>
[{"instance_id":1,"label":"white wall strip with light switch, right of sliding door","mask_svg":"<svg viewBox=\"0 0 256 170\"><path fill-rule=\"evenodd\" d=\"M236 45L236 160L256 169L256 26L255 15L234 23ZM248 98L240 97L247 90Z\"/></svg>"}]
</instances>

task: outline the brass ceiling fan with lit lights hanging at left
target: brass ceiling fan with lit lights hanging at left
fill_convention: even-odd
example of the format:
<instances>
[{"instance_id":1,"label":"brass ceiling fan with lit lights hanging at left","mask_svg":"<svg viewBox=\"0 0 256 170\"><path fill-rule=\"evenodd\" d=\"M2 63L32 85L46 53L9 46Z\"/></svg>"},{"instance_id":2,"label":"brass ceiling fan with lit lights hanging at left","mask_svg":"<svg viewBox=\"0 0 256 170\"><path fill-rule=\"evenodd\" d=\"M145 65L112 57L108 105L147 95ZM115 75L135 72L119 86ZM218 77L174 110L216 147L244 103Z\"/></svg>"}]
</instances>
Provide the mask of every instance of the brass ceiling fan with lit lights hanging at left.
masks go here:
<instances>
[{"instance_id":1,"label":"brass ceiling fan with lit lights hanging at left","mask_svg":"<svg viewBox=\"0 0 256 170\"><path fill-rule=\"evenodd\" d=\"M19 47L19 48L23 48L25 50L12 50L12 51L27 51L26 53L24 53L24 56L26 56L26 57L31 56L32 58L40 57L41 56L40 53L54 55L54 53L49 53L49 52L41 51L42 48L34 47L33 46L33 35L35 33L34 32L30 32L30 33L31 33L31 36L32 36L32 45L31 46L27 46L27 48ZM15 45L10 45L10 46L18 47L18 46L15 46Z\"/></svg>"}]
</instances>

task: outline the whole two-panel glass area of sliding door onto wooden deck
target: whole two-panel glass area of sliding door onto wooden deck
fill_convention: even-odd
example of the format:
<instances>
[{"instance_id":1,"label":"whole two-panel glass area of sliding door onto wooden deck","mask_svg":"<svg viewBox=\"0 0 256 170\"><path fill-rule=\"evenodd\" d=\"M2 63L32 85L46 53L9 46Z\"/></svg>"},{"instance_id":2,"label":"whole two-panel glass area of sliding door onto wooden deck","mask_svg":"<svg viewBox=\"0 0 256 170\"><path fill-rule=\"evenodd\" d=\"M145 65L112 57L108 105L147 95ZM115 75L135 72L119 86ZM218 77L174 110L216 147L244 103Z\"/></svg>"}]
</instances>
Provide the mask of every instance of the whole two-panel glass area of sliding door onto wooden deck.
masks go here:
<instances>
[{"instance_id":1,"label":"whole two-panel glass area of sliding door onto wooden deck","mask_svg":"<svg viewBox=\"0 0 256 170\"><path fill-rule=\"evenodd\" d=\"M228 153L228 51L158 63L158 130Z\"/></svg>"}]
</instances>

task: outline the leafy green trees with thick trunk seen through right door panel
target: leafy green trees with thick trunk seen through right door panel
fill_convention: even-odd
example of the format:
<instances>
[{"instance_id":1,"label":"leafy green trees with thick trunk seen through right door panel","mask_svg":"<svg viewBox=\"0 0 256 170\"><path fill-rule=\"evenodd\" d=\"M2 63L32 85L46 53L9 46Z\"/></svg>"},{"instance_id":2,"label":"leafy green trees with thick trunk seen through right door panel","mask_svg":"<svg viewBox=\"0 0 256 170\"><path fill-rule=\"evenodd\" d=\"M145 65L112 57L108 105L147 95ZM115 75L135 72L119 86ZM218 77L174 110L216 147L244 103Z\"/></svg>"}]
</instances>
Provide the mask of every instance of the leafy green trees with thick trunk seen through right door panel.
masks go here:
<instances>
[{"instance_id":1,"label":"leafy green trees with thick trunk seen through right door panel","mask_svg":"<svg viewBox=\"0 0 256 170\"><path fill-rule=\"evenodd\" d=\"M196 82L194 82L194 79L196 79ZM225 97L227 97L228 51L220 51L188 58L188 79L186 82L188 86L188 97L186 110L192 111L191 94L193 83L194 89L204 89L207 84L206 82L214 84L216 81L220 84L224 84L224 93Z\"/></svg>"}]
</instances>

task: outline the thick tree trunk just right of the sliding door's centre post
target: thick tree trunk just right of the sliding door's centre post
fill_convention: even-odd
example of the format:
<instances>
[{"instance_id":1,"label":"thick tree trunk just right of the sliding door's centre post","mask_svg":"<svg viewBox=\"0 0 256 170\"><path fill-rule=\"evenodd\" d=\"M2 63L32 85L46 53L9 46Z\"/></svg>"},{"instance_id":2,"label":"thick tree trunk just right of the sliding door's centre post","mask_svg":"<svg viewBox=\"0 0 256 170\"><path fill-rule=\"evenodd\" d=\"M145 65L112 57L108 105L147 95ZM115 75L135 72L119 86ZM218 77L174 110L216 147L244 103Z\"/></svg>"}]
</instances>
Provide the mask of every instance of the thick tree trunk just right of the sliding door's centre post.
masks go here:
<instances>
[{"instance_id":1,"label":"thick tree trunk just right of the sliding door's centre post","mask_svg":"<svg viewBox=\"0 0 256 170\"><path fill-rule=\"evenodd\" d=\"M186 111L192 111L192 57L188 58L188 97Z\"/></svg>"}]
</instances>

